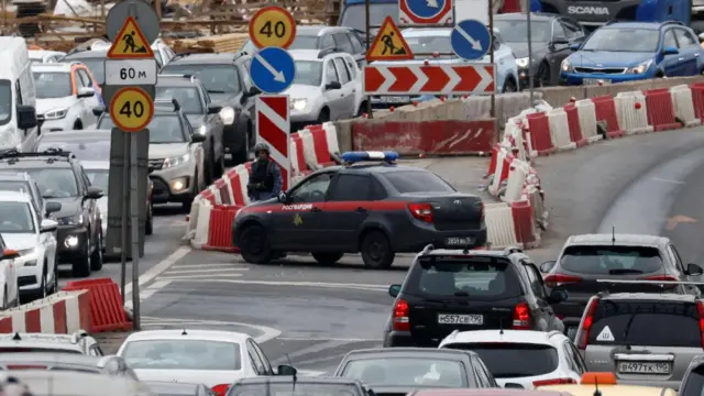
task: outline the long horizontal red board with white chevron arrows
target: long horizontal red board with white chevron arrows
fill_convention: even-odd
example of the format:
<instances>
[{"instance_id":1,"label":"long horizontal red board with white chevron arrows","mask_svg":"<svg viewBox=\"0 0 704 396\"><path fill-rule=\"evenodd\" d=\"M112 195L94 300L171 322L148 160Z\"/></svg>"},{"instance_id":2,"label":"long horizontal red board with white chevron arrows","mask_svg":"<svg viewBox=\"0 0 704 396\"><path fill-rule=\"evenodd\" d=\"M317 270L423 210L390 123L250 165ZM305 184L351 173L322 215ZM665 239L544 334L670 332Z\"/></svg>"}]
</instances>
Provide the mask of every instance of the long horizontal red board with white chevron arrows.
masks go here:
<instances>
[{"instance_id":1,"label":"long horizontal red board with white chevron arrows","mask_svg":"<svg viewBox=\"0 0 704 396\"><path fill-rule=\"evenodd\" d=\"M495 94L491 64L367 65L366 95L491 95Z\"/></svg>"}]
</instances>

